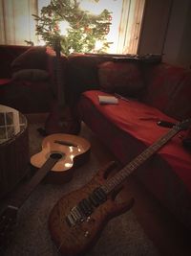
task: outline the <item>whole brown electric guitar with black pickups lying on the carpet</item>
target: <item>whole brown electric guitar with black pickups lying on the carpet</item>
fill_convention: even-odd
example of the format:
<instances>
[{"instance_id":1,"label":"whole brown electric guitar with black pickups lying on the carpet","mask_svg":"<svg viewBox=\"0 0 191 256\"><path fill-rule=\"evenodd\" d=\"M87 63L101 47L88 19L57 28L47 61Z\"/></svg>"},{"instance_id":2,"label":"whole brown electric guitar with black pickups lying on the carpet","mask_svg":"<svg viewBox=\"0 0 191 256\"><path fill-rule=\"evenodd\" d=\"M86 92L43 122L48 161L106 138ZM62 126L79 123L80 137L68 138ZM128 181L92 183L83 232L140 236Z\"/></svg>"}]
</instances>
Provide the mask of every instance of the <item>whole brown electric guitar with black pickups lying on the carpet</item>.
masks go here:
<instances>
[{"instance_id":1,"label":"whole brown electric guitar with black pickups lying on the carpet","mask_svg":"<svg viewBox=\"0 0 191 256\"><path fill-rule=\"evenodd\" d=\"M84 255L96 243L105 224L133 206L133 199L123 203L115 201L121 183L181 129L190 125L191 119L175 125L116 175L106 177L114 169L114 162L111 162L87 185L59 199L49 218L57 250L64 256Z\"/></svg>"}]
</instances>

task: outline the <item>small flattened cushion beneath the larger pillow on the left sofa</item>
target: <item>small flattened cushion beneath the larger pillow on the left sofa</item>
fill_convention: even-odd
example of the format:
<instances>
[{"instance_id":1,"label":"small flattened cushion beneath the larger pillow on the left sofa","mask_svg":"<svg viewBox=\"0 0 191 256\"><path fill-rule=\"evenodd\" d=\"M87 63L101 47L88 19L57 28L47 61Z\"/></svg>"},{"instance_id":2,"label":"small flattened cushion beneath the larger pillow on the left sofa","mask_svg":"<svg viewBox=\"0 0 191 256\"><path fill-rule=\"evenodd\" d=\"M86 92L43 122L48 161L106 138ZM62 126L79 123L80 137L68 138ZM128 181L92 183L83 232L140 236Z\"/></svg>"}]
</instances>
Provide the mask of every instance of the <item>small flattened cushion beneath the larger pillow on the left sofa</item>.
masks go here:
<instances>
[{"instance_id":1,"label":"small flattened cushion beneath the larger pillow on the left sofa","mask_svg":"<svg viewBox=\"0 0 191 256\"><path fill-rule=\"evenodd\" d=\"M47 81L49 73L42 69L21 69L12 74L13 80Z\"/></svg>"}]
</instances>

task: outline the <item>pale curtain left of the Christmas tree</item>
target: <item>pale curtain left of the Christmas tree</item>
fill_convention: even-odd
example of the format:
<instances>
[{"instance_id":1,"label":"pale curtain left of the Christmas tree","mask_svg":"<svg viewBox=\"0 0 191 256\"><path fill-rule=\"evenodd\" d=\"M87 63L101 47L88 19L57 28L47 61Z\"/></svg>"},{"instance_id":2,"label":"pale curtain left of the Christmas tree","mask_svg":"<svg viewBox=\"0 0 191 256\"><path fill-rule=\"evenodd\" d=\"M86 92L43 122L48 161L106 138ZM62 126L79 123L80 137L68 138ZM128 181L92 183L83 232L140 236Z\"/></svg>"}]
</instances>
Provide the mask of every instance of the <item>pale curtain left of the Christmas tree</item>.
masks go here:
<instances>
[{"instance_id":1,"label":"pale curtain left of the Christmas tree","mask_svg":"<svg viewBox=\"0 0 191 256\"><path fill-rule=\"evenodd\" d=\"M0 0L0 44L36 43L37 0Z\"/></svg>"}]
</instances>

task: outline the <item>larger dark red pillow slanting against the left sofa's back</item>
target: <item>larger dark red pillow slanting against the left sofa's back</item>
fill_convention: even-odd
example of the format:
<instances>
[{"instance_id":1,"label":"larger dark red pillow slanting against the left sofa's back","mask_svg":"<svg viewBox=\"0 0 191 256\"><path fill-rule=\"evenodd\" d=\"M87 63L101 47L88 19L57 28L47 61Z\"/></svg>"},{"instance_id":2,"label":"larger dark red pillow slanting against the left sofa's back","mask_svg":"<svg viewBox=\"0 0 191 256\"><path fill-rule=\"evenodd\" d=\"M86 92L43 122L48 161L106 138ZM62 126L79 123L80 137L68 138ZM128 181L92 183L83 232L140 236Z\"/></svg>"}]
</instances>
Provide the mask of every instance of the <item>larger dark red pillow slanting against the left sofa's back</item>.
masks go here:
<instances>
[{"instance_id":1,"label":"larger dark red pillow slanting against the left sofa's back","mask_svg":"<svg viewBox=\"0 0 191 256\"><path fill-rule=\"evenodd\" d=\"M23 69L47 69L47 54L45 46L33 46L11 62L11 70L17 72Z\"/></svg>"}]
</instances>

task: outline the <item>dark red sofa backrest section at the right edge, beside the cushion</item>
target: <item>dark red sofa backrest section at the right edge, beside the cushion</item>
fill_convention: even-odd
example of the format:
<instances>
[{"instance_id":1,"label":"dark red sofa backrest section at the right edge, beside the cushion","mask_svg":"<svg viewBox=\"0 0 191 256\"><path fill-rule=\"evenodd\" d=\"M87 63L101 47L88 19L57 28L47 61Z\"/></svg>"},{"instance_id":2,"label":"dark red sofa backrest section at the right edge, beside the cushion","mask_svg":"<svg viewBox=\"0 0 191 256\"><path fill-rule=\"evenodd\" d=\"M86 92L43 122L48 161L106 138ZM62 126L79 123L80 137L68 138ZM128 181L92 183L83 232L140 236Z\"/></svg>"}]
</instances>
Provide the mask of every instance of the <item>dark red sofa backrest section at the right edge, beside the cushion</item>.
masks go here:
<instances>
[{"instance_id":1,"label":"dark red sofa backrest section at the right edge, beside the cushion","mask_svg":"<svg viewBox=\"0 0 191 256\"><path fill-rule=\"evenodd\" d=\"M143 71L143 103L178 120L191 117L191 70L160 63L145 64Z\"/></svg>"}]
</instances>

